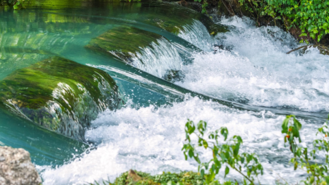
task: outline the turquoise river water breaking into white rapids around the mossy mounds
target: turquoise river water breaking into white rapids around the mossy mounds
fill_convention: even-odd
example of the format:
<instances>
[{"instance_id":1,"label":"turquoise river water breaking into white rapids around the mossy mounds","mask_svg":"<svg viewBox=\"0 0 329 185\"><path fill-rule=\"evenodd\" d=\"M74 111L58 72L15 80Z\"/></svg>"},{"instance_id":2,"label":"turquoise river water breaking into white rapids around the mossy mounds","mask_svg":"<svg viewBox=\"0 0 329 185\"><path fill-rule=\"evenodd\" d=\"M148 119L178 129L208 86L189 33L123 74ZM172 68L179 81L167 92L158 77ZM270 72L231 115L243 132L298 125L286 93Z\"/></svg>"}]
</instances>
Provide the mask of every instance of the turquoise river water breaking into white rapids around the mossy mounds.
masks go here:
<instances>
[{"instance_id":1,"label":"turquoise river water breaking into white rapids around the mossy mounds","mask_svg":"<svg viewBox=\"0 0 329 185\"><path fill-rule=\"evenodd\" d=\"M167 7L172 12L163 13ZM0 7L0 79L62 56L109 73L126 101L92 121L88 143L0 110L0 145L27 149L43 184L113 181L129 169L197 171L196 162L184 160L181 151L184 125L187 119L204 120L209 130L228 127L230 136L243 138L242 151L258 154L263 184L281 177L289 183L302 180L304 172L289 164L281 123L284 114L300 116L302 145L311 145L329 112L329 57L317 49L287 55L300 45L292 36L278 27L256 27L246 17L219 19L217 24L230 32L216 36L197 19L175 34L149 21L183 10L168 3L112 1L36 1L19 11ZM131 66L84 47L120 25L163 37L141 48ZM179 78L165 81L169 71L180 71ZM211 153L202 151L201 158L208 160ZM236 173L226 178L241 179Z\"/></svg>"}]
</instances>

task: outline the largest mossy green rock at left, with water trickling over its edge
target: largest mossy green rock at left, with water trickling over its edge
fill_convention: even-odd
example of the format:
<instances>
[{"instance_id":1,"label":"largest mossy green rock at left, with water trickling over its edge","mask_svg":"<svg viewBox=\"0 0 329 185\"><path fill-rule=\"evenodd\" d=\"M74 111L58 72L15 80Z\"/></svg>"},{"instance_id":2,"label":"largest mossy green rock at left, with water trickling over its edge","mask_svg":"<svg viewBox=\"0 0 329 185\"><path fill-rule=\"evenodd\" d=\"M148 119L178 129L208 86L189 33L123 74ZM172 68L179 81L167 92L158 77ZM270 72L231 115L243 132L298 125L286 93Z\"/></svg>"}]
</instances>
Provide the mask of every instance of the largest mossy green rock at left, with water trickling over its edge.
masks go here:
<instances>
[{"instance_id":1,"label":"largest mossy green rock at left, with water trickling over its edge","mask_svg":"<svg viewBox=\"0 0 329 185\"><path fill-rule=\"evenodd\" d=\"M84 128L99 112L123 103L110 75L60 57L5 77L0 102L14 114L77 140L84 140Z\"/></svg>"}]
</instances>

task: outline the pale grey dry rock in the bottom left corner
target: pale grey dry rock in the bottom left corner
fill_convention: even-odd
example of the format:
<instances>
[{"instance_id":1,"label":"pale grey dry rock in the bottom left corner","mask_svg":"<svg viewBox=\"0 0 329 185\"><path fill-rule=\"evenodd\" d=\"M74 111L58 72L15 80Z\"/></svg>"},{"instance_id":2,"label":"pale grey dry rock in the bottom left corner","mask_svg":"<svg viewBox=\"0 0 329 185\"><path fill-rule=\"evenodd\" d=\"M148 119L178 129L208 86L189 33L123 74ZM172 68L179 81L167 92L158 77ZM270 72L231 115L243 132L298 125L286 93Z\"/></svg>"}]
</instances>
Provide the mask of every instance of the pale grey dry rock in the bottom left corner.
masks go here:
<instances>
[{"instance_id":1,"label":"pale grey dry rock in the bottom left corner","mask_svg":"<svg viewBox=\"0 0 329 185\"><path fill-rule=\"evenodd\" d=\"M0 146L0 185L38 185L40 176L24 149Z\"/></svg>"}]
</instances>

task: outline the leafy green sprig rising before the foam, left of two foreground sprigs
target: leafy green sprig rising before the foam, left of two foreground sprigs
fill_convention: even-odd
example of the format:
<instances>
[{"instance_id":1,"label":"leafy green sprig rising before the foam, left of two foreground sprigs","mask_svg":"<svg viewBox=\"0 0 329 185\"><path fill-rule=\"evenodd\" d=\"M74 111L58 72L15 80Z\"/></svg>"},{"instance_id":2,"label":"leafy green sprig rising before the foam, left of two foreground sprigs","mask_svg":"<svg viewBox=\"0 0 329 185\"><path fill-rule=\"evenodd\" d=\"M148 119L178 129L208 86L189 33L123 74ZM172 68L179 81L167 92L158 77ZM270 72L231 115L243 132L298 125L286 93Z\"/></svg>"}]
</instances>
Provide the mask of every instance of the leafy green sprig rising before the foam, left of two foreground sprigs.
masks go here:
<instances>
[{"instance_id":1,"label":"leafy green sprig rising before the foam, left of two foreground sprigs","mask_svg":"<svg viewBox=\"0 0 329 185\"><path fill-rule=\"evenodd\" d=\"M258 175L263 175L263 166L254 153L240 153L240 146L243 140L240 136L233 136L228 139L228 129L221 127L220 130L206 134L207 123L199 121L197 125L188 120L185 125L186 143L182 150L186 160L194 158L199 163L198 171L206 178L206 184L220 184L215 180L221 167L225 167L225 176L230 169L239 172L243 176L243 184L254 184ZM197 137L197 143L193 144L191 135ZM205 136L206 135L206 136ZM219 141L223 137L224 143ZM209 162L201 162L196 148L203 147L212 151L212 159ZM224 176L224 177L225 177ZM226 184L234 184L226 182Z\"/></svg>"}]
</instances>

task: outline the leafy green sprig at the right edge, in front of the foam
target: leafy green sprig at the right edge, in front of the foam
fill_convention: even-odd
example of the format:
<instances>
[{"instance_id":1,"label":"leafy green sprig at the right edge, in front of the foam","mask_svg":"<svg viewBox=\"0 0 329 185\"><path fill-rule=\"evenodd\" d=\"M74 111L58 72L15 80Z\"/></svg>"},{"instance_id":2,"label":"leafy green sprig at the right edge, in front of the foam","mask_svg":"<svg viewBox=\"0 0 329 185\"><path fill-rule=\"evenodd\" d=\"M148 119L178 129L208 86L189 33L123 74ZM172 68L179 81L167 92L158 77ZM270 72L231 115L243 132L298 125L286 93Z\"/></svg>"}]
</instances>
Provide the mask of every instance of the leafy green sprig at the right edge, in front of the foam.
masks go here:
<instances>
[{"instance_id":1,"label":"leafy green sprig at the right edge, in front of the foam","mask_svg":"<svg viewBox=\"0 0 329 185\"><path fill-rule=\"evenodd\" d=\"M328 117L329 119L329 117ZM309 176L304 180L304 184L329 184L329 161L328 161L328 125L324 125L318 129L317 134L321 136L321 139L313 141L313 149L307 147L300 147L298 143L302 143L300 138L300 129L302 124L297 121L293 115L287 116L282 123L282 133L287 134L284 136L284 143L288 143L290 150L293 153L291 163L294 164L294 168L306 169ZM297 143L298 141L298 143ZM326 156L325 162L321 164L317 163L319 153L324 152Z\"/></svg>"}]
</instances>

